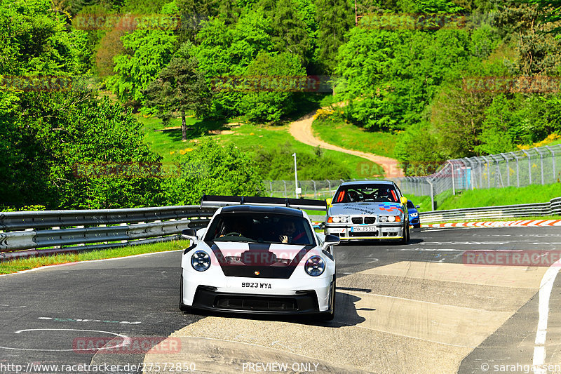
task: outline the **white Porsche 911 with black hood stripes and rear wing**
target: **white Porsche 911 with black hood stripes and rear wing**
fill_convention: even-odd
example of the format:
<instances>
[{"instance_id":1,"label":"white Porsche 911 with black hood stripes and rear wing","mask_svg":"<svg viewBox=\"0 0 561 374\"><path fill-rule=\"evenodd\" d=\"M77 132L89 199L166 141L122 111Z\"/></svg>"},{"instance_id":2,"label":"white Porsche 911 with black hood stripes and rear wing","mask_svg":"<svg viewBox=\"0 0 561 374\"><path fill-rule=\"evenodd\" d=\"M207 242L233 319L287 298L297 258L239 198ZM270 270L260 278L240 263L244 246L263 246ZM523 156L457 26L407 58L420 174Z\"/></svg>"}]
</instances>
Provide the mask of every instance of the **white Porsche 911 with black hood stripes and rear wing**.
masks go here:
<instances>
[{"instance_id":1,"label":"white Porsche 911 with black hood stripes and rear wing","mask_svg":"<svg viewBox=\"0 0 561 374\"><path fill-rule=\"evenodd\" d=\"M325 201L203 196L221 206L204 229L186 229L180 309L334 316L337 236L314 232L304 211ZM295 206L297 208L291 208Z\"/></svg>"}]
</instances>

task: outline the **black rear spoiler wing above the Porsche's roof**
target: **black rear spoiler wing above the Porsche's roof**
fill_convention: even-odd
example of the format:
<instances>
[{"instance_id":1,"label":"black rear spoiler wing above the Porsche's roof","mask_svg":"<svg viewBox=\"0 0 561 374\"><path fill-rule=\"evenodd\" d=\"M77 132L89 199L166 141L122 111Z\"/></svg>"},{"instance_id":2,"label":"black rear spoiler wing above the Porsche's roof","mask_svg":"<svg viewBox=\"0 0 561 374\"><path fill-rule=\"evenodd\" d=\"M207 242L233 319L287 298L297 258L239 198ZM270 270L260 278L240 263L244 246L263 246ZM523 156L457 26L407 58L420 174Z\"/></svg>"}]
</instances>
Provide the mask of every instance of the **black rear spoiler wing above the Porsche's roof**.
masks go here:
<instances>
[{"instance_id":1,"label":"black rear spoiler wing above the Porsche's roof","mask_svg":"<svg viewBox=\"0 0 561 374\"><path fill-rule=\"evenodd\" d=\"M203 195L203 206L231 206L231 205L262 205L262 206L288 206L296 209L309 209L311 211L327 211L325 200L290 199L287 197L259 197L259 196L217 196Z\"/></svg>"}]
</instances>

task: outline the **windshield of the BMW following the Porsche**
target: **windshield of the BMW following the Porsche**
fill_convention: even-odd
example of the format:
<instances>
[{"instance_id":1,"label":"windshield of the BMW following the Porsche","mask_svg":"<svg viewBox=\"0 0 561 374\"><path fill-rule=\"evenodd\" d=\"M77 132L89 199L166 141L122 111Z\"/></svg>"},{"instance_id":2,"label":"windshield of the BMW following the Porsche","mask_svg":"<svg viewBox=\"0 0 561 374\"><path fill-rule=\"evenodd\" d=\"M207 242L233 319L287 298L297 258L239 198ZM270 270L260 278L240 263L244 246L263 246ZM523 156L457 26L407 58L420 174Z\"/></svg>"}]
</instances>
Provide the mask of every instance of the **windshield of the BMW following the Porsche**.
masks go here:
<instances>
[{"instance_id":1,"label":"windshield of the BMW following the Porsche","mask_svg":"<svg viewBox=\"0 0 561 374\"><path fill-rule=\"evenodd\" d=\"M346 185L337 189L332 203L383 202L397 203L398 192L392 185Z\"/></svg>"}]
</instances>

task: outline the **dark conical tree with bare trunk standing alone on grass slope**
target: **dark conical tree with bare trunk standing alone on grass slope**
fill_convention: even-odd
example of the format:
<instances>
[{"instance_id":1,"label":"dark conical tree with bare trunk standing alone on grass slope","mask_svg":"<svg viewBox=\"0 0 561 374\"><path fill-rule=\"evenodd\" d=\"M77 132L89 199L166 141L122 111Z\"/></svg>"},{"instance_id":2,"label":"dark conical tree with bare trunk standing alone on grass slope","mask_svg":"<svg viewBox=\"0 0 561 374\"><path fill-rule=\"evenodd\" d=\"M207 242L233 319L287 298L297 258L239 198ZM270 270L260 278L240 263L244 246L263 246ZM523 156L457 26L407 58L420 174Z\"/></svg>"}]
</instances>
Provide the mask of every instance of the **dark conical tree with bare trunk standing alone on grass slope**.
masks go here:
<instances>
[{"instance_id":1,"label":"dark conical tree with bare trunk standing alone on grass slope","mask_svg":"<svg viewBox=\"0 0 561 374\"><path fill-rule=\"evenodd\" d=\"M169 119L172 112L180 112L182 140L187 140L186 112L201 116L210 105L205 76L190 49L190 44L184 44L146 91L147 104L156 106L161 118Z\"/></svg>"}]
</instances>

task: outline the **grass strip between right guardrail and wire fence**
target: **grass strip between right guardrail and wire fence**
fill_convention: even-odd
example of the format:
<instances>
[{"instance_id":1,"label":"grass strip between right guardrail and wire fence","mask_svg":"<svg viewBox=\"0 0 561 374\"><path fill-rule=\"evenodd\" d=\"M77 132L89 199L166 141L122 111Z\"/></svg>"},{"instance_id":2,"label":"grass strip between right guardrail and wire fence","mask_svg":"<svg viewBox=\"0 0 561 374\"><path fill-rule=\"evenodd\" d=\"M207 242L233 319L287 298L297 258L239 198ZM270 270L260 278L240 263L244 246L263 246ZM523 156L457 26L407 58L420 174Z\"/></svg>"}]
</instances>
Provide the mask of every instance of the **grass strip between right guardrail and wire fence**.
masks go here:
<instances>
[{"instance_id":1,"label":"grass strip between right guardrail and wire fence","mask_svg":"<svg viewBox=\"0 0 561 374\"><path fill-rule=\"evenodd\" d=\"M470 189L452 195L445 191L435 196L437 210L478 208L482 206L501 206L529 203L546 203L561 196L561 183L552 185L532 185L528 187L506 187L490 189ZM419 211L431 211L431 196L407 195L415 205L421 206Z\"/></svg>"}]
</instances>

